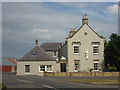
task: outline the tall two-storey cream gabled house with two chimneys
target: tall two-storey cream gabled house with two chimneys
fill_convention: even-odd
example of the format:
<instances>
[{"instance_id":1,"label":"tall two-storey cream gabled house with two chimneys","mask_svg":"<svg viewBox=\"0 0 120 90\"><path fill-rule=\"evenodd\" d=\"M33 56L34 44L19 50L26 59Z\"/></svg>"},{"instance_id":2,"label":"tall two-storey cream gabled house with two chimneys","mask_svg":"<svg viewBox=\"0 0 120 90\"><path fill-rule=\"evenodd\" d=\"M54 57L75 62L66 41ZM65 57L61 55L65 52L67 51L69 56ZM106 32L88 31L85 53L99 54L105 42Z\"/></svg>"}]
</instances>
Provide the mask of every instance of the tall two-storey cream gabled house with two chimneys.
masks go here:
<instances>
[{"instance_id":1,"label":"tall two-storey cream gabled house with two chimneys","mask_svg":"<svg viewBox=\"0 0 120 90\"><path fill-rule=\"evenodd\" d=\"M84 15L82 26L77 31L71 29L65 44L60 48L60 56L66 58L66 62L62 63L66 66L65 71L103 71L104 41L89 26L88 17Z\"/></svg>"}]
</instances>

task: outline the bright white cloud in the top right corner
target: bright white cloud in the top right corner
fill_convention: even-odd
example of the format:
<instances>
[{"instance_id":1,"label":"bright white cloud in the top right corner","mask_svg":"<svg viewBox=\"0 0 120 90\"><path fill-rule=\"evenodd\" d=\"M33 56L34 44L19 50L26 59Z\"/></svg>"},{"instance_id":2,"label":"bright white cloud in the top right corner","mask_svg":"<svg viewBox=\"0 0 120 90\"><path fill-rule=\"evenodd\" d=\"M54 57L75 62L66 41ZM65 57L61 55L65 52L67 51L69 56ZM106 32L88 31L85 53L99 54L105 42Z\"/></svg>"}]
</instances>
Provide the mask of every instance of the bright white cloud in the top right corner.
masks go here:
<instances>
[{"instance_id":1,"label":"bright white cloud in the top right corner","mask_svg":"<svg viewBox=\"0 0 120 90\"><path fill-rule=\"evenodd\" d=\"M114 5L108 6L108 8L106 9L106 12L108 14L118 15L118 5L114 4Z\"/></svg>"}]
</instances>

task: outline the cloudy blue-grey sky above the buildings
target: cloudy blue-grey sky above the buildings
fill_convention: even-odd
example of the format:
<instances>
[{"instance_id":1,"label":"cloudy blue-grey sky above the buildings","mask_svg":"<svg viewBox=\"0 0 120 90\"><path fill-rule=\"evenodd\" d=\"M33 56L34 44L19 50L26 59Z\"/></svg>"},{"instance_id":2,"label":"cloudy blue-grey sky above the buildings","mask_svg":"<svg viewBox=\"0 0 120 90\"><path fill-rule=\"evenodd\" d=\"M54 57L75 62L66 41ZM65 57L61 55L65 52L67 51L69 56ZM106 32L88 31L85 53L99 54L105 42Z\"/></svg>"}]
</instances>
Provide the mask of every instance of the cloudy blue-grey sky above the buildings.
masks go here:
<instances>
[{"instance_id":1,"label":"cloudy blue-grey sky above the buildings","mask_svg":"<svg viewBox=\"0 0 120 90\"><path fill-rule=\"evenodd\" d=\"M1 5L0 5L1 6ZM3 2L2 54L21 58L43 42L64 42L70 28L81 27L82 15L107 40L118 33L117 2Z\"/></svg>"}]
</instances>

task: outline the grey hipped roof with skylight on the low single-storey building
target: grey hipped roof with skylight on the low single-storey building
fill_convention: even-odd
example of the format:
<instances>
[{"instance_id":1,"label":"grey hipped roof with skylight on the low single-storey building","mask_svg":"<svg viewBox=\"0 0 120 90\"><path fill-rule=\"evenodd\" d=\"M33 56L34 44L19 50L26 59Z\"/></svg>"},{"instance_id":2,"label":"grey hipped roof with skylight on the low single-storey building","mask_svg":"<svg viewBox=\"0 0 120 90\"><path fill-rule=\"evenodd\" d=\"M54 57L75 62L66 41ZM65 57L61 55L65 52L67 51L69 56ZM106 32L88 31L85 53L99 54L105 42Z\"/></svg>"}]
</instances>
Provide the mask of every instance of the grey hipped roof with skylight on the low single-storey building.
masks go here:
<instances>
[{"instance_id":1,"label":"grey hipped roof with skylight on the low single-storey building","mask_svg":"<svg viewBox=\"0 0 120 90\"><path fill-rule=\"evenodd\" d=\"M35 55L33 55L35 52ZM53 61L54 59L49 56L42 48L35 46L26 55L24 55L19 61Z\"/></svg>"}]
</instances>

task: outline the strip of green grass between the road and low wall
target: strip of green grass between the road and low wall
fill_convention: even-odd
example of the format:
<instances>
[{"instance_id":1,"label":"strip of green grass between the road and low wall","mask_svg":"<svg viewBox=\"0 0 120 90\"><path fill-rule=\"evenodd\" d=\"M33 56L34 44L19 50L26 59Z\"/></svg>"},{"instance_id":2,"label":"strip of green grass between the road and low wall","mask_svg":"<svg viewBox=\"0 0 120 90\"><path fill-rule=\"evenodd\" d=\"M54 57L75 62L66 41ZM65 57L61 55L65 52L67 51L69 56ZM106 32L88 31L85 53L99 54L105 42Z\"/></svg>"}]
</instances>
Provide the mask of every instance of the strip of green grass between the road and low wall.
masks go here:
<instances>
[{"instance_id":1,"label":"strip of green grass between the road and low wall","mask_svg":"<svg viewBox=\"0 0 120 90\"><path fill-rule=\"evenodd\" d=\"M101 80L101 79L64 79L69 82L88 83L88 84L118 84L118 80Z\"/></svg>"}]
</instances>

